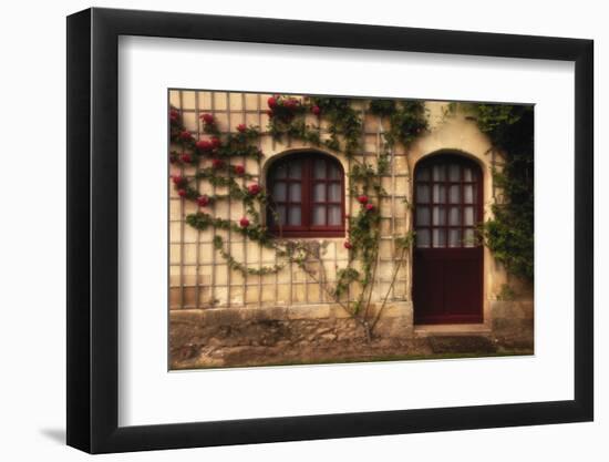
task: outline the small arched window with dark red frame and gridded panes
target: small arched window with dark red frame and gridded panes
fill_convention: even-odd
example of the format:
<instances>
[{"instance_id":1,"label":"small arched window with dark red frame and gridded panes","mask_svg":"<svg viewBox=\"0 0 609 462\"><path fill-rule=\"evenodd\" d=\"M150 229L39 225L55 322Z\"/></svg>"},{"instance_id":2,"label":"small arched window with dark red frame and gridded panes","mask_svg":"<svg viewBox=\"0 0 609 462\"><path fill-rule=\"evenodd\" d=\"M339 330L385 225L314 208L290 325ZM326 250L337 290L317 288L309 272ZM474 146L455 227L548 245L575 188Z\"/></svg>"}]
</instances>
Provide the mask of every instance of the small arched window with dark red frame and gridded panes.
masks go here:
<instances>
[{"instance_id":1,"label":"small arched window with dark red frame and gridded panes","mask_svg":"<svg viewBox=\"0 0 609 462\"><path fill-rule=\"evenodd\" d=\"M344 236L344 174L317 152L289 154L268 171L269 229L285 237Z\"/></svg>"}]
</instances>

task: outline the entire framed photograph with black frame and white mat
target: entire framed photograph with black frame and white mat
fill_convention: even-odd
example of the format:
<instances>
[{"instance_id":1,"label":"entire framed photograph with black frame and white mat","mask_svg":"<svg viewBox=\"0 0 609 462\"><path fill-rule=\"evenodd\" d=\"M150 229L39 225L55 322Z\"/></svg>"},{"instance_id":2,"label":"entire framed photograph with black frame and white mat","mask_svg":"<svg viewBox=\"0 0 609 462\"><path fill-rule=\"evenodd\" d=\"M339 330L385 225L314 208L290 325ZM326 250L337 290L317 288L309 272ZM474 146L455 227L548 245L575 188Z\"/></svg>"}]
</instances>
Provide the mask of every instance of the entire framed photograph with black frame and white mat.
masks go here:
<instances>
[{"instance_id":1,"label":"entire framed photograph with black frame and white mat","mask_svg":"<svg viewBox=\"0 0 609 462\"><path fill-rule=\"evenodd\" d=\"M68 18L68 444L590 421L592 41Z\"/></svg>"}]
</instances>

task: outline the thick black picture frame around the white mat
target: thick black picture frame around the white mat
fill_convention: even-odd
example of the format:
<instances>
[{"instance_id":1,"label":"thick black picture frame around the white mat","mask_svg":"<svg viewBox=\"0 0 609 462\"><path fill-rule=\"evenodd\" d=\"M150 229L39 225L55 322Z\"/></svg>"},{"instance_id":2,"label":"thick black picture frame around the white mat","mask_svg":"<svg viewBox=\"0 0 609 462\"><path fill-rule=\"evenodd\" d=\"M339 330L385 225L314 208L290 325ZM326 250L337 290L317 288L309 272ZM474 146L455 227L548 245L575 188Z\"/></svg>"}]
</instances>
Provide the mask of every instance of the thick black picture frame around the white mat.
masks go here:
<instances>
[{"instance_id":1,"label":"thick black picture frame around the white mat","mask_svg":"<svg viewBox=\"0 0 609 462\"><path fill-rule=\"evenodd\" d=\"M120 35L575 62L575 399L118 427ZM70 16L68 444L105 453L592 420L592 70L591 40L97 8Z\"/></svg>"}]
</instances>

